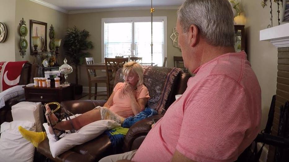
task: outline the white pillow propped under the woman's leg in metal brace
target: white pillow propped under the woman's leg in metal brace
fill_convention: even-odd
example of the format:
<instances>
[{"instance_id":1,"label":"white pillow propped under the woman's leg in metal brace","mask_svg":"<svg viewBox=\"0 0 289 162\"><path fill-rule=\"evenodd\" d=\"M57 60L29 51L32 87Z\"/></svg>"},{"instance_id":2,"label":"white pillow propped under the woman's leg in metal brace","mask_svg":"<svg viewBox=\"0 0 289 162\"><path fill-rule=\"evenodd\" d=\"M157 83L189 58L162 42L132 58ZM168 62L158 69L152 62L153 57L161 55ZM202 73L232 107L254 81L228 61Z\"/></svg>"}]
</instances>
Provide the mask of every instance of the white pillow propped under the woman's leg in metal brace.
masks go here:
<instances>
[{"instance_id":1,"label":"white pillow propped under the woman's leg in metal brace","mask_svg":"<svg viewBox=\"0 0 289 162\"><path fill-rule=\"evenodd\" d=\"M43 123L43 126L47 132L47 137L49 139L49 146L52 156L55 158L61 153L69 150L70 148L80 145L82 143L86 143L90 141L100 134L102 134L105 130L110 130L116 127L120 127L116 121L113 120L100 120L95 121L86 126L83 126L81 129L76 131L76 133L65 134L65 136L56 141L55 136L50 134L48 131L49 126L47 123Z\"/></svg>"}]
</instances>

